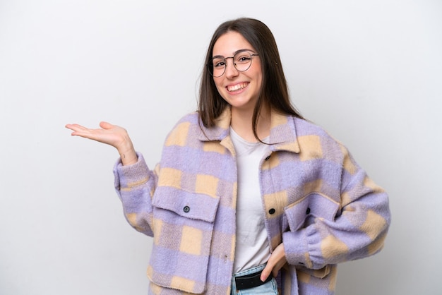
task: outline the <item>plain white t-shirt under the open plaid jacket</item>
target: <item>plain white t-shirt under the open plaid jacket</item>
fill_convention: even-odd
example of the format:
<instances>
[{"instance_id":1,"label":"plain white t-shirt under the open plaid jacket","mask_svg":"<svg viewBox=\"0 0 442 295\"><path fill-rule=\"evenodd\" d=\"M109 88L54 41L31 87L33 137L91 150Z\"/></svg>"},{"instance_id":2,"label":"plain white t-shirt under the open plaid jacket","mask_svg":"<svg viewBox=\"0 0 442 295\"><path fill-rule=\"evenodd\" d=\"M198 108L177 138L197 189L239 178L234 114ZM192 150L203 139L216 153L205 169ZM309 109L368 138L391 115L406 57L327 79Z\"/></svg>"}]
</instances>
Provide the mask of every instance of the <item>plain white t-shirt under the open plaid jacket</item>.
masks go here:
<instances>
[{"instance_id":1,"label":"plain white t-shirt under the open plaid jacket","mask_svg":"<svg viewBox=\"0 0 442 295\"><path fill-rule=\"evenodd\" d=\"M237 244L234 272L266 263L270 257L267 231L264 225L263 200L259 185L259 164L269 146L249 143L232 128L230 136L237 152ZM263 142L267 142L265 138Z\"/></svg>"}]
</instances>

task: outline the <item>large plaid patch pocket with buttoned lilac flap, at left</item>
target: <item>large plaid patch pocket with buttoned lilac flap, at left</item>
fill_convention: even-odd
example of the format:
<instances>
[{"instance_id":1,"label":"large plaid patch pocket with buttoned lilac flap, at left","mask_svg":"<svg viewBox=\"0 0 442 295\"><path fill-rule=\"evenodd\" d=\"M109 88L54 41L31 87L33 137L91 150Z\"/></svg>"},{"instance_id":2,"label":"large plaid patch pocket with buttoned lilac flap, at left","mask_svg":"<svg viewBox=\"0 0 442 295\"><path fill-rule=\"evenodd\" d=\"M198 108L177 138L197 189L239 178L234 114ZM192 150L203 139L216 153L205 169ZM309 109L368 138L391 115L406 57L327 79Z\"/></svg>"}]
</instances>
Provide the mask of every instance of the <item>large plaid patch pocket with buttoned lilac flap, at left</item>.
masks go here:
<instances>
[{"instance_id":1,"label":"large plaid patch pocket with buttoned lilac flap, at left","mask_svg":"<svg viewBox=\"0 0 442 295\"><path fill-rule=\"evenodd\" d=\"M149 279L193 294L205 291L219 197L157 187L153 196L153 251Z\"/></svg>"}]
</instances>

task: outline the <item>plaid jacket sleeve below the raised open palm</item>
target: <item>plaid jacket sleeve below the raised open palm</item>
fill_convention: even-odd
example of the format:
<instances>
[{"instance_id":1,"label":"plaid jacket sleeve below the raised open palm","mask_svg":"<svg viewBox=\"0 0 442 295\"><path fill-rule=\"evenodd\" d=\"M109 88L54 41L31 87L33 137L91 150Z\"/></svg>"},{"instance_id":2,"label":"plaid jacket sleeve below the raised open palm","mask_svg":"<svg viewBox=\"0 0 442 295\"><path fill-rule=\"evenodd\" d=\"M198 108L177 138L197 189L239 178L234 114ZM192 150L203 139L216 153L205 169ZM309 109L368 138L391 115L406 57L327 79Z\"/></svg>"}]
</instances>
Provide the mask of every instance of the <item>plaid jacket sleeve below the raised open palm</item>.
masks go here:
<instances>
[{"instance_id":1,"label":"plaid jacket sleeve below the raised open palm","mask_svg":"<svg viewBox=\"0 0 442 295\"><path fill-rule=\"evenodd\" d=\"M121 159L114 166L115 189L121 200L124 216L133 228L153 236L152 197L157 186L157 169L151 171L141 153L135 164L124 166Z\"/></svg>"}]
</instances>

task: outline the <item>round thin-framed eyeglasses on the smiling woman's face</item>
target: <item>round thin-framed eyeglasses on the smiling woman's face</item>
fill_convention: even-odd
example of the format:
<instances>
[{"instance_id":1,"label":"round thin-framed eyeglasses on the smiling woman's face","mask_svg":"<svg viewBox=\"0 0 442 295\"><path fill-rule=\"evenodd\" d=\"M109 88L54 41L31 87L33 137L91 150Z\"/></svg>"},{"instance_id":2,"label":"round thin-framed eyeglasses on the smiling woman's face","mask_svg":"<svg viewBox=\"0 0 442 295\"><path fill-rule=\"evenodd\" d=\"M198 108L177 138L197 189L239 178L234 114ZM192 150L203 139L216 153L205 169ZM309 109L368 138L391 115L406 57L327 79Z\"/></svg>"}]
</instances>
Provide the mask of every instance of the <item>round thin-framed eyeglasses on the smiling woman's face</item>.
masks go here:
<instances>
[{"instance_id":1,"label":"round thin-framed eyeglasses on the smiling woman's face","mask_svg":"<svg viewBox=\"0 0 442 295\"><path fill-rule=\"evenodd\" d=\"M251 54L246 50L241 50L237 52L234 56L229 56L229 57L215 56L212 59L212 61L210 61L209 64L207 65L209 73L215 78L224 75L227 66L227 59L233 60L233 66L237 69L237 71L240 72L247 71L251 66L251 57L258 55L259 54Z\"/></svg>"}]
</instances>

